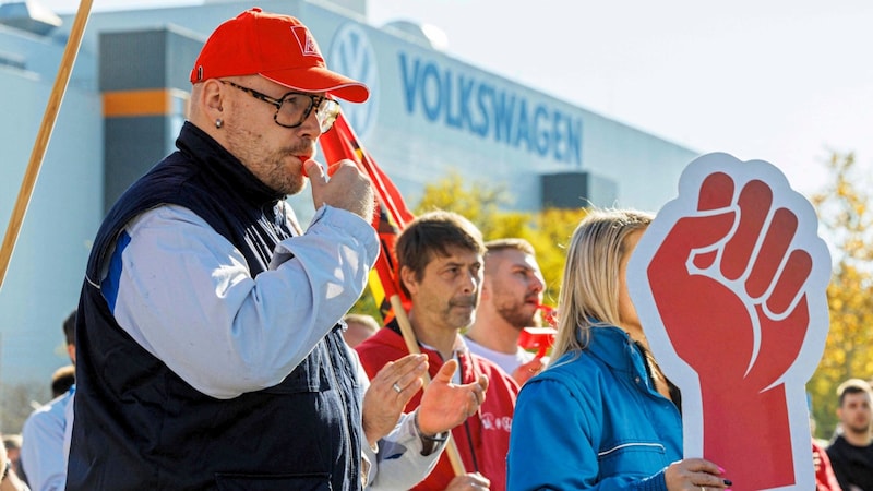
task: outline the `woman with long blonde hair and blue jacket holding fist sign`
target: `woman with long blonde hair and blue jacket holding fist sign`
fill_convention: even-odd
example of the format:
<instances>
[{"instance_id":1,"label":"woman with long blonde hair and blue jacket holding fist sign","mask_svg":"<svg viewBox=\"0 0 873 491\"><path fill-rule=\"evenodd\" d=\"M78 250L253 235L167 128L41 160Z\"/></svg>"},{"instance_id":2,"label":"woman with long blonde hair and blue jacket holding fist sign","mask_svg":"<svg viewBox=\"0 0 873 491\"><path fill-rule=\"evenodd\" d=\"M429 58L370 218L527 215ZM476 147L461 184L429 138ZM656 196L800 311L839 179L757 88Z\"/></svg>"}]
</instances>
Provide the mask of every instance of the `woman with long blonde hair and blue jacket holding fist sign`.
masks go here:
<instances>
[{"instance_id":1,"label":"woman with long blonde hair and blue jacket holding fist sign","mask_svg":"<svg viewBox=\"0 0 873 491\"><path fill-rule=\"evenodd\" d=\"M573 232L548 370L515 406L510 490L717 490L723 469L682 459L679 391L651 357L626 285L653 216L593 209Z\"/></svg>"}]
</instances>

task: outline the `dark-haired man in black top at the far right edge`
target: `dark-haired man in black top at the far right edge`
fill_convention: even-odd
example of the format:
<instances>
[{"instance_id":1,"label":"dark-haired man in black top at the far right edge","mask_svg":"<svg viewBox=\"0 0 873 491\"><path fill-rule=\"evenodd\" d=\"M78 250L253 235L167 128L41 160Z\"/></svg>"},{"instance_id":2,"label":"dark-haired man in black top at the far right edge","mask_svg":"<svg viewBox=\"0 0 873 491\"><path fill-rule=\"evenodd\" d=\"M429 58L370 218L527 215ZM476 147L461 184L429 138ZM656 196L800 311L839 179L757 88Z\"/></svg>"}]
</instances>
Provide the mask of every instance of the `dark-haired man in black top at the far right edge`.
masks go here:
<instances>
[{"instance_id":1,"label":"dark-haired man in black top at the far right edge","mask_svg":"<svg viewBox=\"0 0 873 491\"><path fill-rule=\"evenodd\" d=\"M837 395L841 433L827 447L834 474L845 491L873 490L870 384L849 379L839 385Z\"/></svg>"}]
</instances>

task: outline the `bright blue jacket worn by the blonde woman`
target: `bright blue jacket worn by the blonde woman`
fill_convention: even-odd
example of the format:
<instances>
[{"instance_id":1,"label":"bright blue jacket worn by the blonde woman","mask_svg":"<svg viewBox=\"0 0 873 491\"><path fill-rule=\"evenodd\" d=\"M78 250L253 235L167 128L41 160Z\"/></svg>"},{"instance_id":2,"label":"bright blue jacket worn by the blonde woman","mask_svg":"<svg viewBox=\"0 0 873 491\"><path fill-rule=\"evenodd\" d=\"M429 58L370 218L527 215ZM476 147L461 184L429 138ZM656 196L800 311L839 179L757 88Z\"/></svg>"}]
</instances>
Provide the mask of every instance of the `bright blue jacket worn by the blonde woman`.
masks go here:
<instances>
[{"instance_id":1,"label":"bright blue jacket worn by the blonde woman","mask_svg":"<svg viewBox=\"0 0 873 491\"><path fill-rule=\"evenodd\" d=\"M618 327L529 380L510 433L509 490L667 490L682 459L679 409L658 394L645 358Z\"/></svg>"}]
</instances>

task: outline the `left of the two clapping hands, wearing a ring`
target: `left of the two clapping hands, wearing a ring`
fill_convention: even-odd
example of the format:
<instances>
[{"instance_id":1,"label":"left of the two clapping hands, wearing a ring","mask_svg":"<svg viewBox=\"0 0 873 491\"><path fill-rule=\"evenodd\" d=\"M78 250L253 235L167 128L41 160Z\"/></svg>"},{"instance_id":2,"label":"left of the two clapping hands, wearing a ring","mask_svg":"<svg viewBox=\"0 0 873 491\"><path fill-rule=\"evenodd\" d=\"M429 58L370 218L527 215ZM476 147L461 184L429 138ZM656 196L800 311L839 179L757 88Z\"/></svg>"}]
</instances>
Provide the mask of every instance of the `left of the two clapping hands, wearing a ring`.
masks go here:
<instances>
[{"instance_id":1,"label":"left of the two clapping hands, wearing a ring","mask_svg":"<svg viewBox=\"0 0 873 491\"><path fill-rule=\"evenodd\" d=\"M426 355L407 355L388 361L370 381L363 394L363 433L370 446L391 430L400 419L406 403L421 388L421 376L428 372ZM398 391L399 390L399 391Z\"/></svg>"}]
</instances>

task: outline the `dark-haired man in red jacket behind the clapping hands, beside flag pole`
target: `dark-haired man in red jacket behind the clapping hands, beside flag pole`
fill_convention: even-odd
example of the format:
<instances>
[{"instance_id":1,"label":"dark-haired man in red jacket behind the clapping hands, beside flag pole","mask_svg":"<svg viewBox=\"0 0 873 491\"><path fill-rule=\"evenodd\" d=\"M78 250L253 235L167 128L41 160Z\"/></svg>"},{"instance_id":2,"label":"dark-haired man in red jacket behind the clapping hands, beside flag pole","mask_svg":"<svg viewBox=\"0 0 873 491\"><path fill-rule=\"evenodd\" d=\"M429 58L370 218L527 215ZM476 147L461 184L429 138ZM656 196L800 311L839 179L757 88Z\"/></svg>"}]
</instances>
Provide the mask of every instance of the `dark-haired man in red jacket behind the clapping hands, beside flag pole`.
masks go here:
<instances>
[{"instance_id":1,"label":"dark-haired man in red jacket behind the clapping hands, beside flag pole","mask_svg":"<svg viewBox=\"0 0 873 491\"><path fill-rule=\"evenodd\" d=\"M475 398L465 404L469 418L452 431L466 474L455 476L447 456L443 456L415 489L503 490L518 385L492 362L470 354L459 335L473 323L479 302L485 253L481 232L456 213L430 212L407 225L395 249L400 286L411 302L408 321L421 351L428 355L431 375L457 367L455 383L481 384ZM409 352L399 330L395 319L358 345L368 374ZM409 405L418 404L416 395Z\"/></svg>"}]
</instances>

